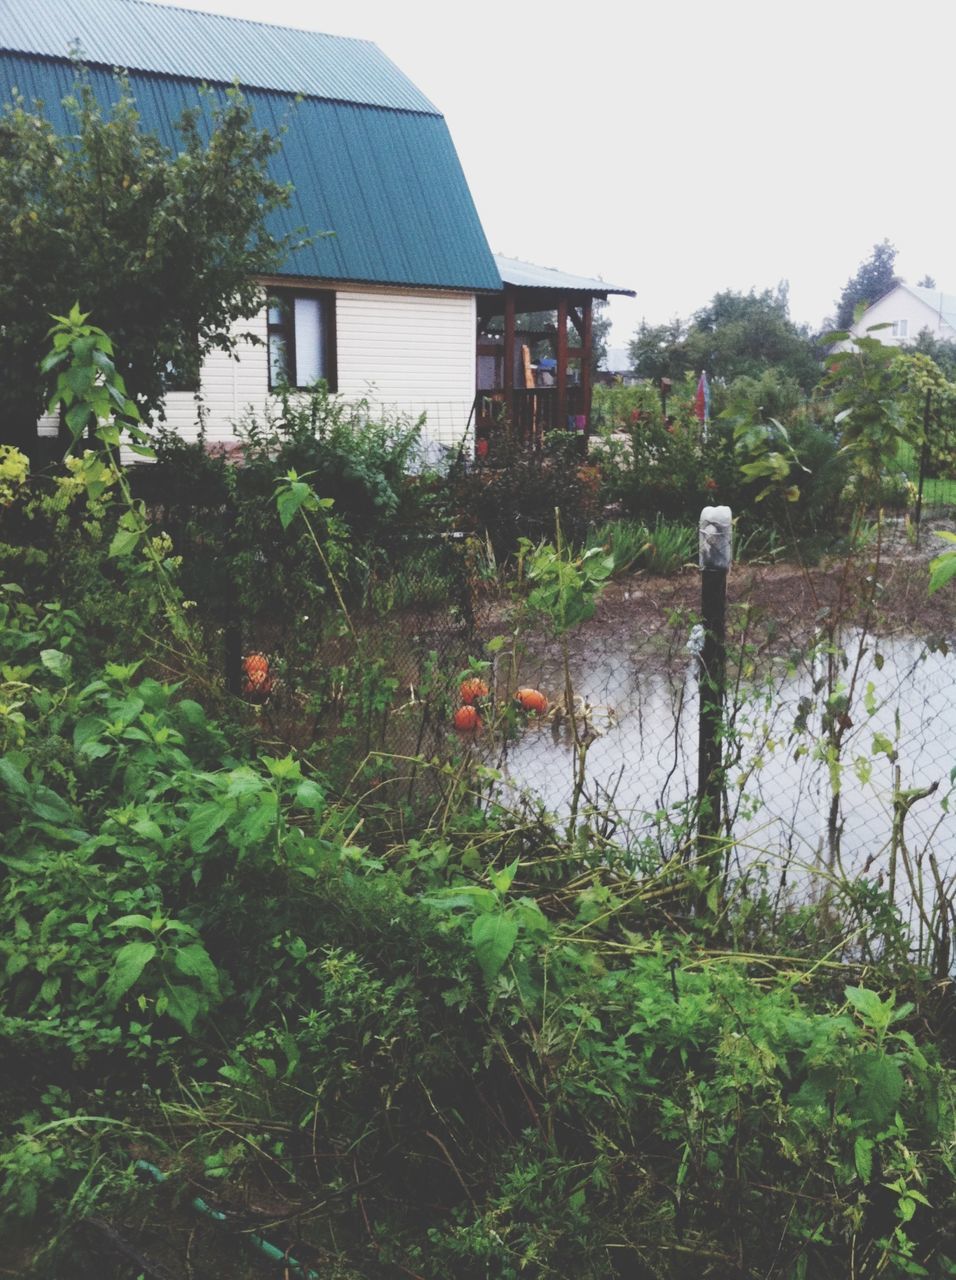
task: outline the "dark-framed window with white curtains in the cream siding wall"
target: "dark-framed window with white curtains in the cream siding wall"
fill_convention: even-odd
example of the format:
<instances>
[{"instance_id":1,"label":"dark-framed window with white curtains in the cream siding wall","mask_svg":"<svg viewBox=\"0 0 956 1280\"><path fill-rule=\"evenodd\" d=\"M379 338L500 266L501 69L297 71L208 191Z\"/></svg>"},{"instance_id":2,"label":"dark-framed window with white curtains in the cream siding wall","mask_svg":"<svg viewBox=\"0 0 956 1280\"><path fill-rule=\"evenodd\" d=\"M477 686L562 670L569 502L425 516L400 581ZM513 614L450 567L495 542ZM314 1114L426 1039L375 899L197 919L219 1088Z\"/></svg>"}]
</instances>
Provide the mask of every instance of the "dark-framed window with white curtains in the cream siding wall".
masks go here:
<instances>
[{"instance_id":1,"label":"dark-framed window with white curtains in the cream siding wall","mask_svg":"<svg viewBox=\"0 0 956 1280\"><path fill-rule=\"evenodd\" d=\"M335 390L335 294L283 289L269 298L267 319L269 389L324 378Z\"/></svg>"}]
</instances>

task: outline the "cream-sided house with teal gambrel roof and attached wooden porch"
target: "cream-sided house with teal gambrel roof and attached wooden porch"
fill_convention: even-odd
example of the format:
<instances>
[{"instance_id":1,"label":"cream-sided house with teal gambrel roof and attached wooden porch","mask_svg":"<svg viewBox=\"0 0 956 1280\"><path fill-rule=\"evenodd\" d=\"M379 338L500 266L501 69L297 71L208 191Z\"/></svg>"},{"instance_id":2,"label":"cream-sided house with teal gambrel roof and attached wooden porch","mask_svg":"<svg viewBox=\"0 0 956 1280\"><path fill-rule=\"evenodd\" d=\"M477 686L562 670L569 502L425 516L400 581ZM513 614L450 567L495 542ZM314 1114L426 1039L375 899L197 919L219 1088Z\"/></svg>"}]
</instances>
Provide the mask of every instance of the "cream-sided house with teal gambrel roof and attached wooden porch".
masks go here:
<instances>
[{"instance_id":1,"label":"cream-sided house with teal gambrel roof and attached wooden porch","mask_svg":"<svg viewBox=\"0 0 956 1280\"><path fill-rule=\"evenodd\" d=\"M18 87L65 128L73 45L104 104L116 96L113 68L128 72L143 125L169 145L201 84L223 92L238 82L259 127L285 125L273 175L294 195L273 229L334 232L261 280L262 307L241 326L260 344L243 344L238 360L207 357L200 393L210 442L232 438L283 378L296 387L324 378L349 399L426 413L434 443L471 442L485 399L476 398L480 328L503 317L513 369L514 316L545 303L563 335L546 425L586 433L590 307L609 287L494 259L444 118L375 45L148 0L0 0L0 101ZM509 420L523 408L523 379L493 378L484 390ZM529 430L544 415L536 403ZM195 435L195 394L170 393L166 417Z\"/></svg>"}]
</instances>

